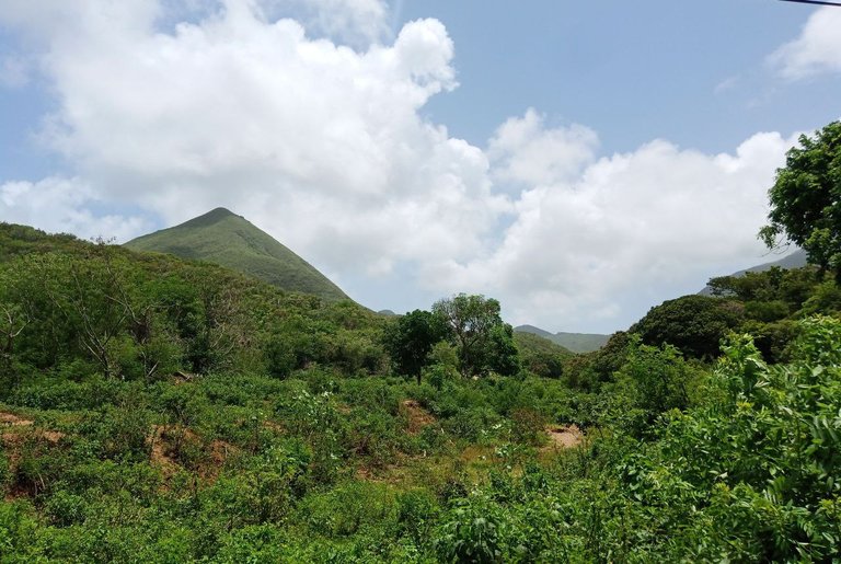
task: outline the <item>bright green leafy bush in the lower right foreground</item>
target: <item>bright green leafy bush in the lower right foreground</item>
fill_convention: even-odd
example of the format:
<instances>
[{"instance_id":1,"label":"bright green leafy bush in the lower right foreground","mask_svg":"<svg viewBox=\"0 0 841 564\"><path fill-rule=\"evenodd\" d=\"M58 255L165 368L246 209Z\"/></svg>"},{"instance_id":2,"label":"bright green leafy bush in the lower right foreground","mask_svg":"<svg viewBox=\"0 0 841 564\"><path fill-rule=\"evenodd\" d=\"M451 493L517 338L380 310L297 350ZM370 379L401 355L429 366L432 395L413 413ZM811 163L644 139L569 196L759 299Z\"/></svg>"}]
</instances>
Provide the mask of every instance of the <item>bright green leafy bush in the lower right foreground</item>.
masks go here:
<instances>
[{"instance_id":1,"label":"bright green leafy bush in the lower right foreground","mask_svg":"<svg viewBox=\"0 0 841 564\"><path fill-rule=\"evenodd\" d=\"M790 365L769 367L736 339L712 401L675 416L650 458L626 470L643 503L680 496L698 508L681 517L678 550L691 560L839 557L839 349L841 323L826 318L805 323Z\"/></svg>"}]
</instances>

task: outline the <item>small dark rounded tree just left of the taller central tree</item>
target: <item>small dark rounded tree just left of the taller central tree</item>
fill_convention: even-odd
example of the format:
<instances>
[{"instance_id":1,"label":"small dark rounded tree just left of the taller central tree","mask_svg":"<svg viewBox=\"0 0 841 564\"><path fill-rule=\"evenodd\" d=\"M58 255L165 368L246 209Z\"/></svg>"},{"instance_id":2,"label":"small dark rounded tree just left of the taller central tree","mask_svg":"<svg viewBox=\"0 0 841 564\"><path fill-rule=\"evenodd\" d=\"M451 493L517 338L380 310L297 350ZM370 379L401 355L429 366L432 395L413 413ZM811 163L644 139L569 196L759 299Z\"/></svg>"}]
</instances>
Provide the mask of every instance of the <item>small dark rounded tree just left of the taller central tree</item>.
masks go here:
<instances>
[{"instance_id":1,"label":"small dark rounded tree just left of the taller central tree","mask_svg":"<svg viewBox=\"0 0 841 564\"><path fill-rule=\"evenodd\" d=\"M385 330L385 349L400 373L413 376L420 383L420 371L427 365L433 347L448 336L443 320L424 310L398 318Z\"/></svg>"}]
</instances>

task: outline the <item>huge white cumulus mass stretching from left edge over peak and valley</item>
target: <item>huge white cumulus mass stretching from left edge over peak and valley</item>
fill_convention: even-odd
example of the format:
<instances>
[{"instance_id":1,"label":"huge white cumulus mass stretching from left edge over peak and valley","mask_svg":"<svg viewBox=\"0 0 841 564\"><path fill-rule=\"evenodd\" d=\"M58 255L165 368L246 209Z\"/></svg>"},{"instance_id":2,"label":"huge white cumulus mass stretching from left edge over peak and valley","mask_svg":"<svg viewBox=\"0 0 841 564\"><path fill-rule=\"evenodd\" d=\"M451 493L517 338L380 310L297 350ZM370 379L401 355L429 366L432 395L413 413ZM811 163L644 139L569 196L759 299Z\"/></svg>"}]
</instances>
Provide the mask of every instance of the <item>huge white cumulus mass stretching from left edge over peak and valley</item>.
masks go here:
<instances>
[{"instance_id":1,"label":"huge white cumulus mass stretching from left edge over peak and valley","mask_svg":"<svg viewBox=\"0 0 841 564\"><path fill-rule=\"evenodd\" d=\"M124 240L148 226L95 210L173 225L226 206L339 285L359 280L346 289L368 306L477 291L511 321L553 330L626 326L761 254L765 191L791 143L779 134L733 154L657 140L604 157L594 130L529 110L479 148L420 115L457 87L440 22L384 42L381 2L335 0L320 5L336 22L359 18L325 36L327 24L313 34L284 5L0 4L0 23L41 42L56 96L41 138L74 173L7 182L0 219Z\"/></svg>"}]
</instances>

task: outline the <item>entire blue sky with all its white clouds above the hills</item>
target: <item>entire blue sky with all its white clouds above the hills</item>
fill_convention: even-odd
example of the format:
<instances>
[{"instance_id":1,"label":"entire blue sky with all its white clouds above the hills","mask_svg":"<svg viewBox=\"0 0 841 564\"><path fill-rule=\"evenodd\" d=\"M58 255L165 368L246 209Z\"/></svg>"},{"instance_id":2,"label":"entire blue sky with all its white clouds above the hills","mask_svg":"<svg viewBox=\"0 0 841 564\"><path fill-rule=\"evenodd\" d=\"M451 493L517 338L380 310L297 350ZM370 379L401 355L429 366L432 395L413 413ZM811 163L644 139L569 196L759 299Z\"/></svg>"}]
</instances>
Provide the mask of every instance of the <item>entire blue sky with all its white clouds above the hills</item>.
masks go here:
<instances>
[{"instance_id":1,"label":"entire blue sky with all its white clouds above the hills","mask_svg":"<svg viewBox=\"0 0 841 564\"><path fill-rule=\"evenodd\" d=\"M0 221L222 206L375 310L610 333L777 258L839 101L841 9L774 0L2 0Z\"/></svg>"}]
</instances>

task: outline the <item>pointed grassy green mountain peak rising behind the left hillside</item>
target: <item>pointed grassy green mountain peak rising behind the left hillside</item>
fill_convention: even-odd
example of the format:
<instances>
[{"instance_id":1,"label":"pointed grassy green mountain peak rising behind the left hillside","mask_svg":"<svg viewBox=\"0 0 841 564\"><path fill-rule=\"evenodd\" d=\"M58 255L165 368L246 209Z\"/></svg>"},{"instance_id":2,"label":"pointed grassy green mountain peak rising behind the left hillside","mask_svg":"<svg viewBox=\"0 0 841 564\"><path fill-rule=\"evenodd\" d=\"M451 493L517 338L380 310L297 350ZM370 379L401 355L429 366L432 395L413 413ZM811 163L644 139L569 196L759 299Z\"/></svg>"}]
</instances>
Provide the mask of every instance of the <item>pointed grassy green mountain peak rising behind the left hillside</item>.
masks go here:
<instances>
[{"instance_id":1,"label":"pointed grassy green mountain peak rising behind the left hillside","mask_svg":"<svg viewBox=\"0 0 841 564\"><path fill-rule=\"evenodd\" d=\"M242 216L224 208L138 237L125 246L133 251L170 253L216 263L283 290L312 293L326 301L348 299L338 286L307 261Z\"/></svg>"}]
</instances>

